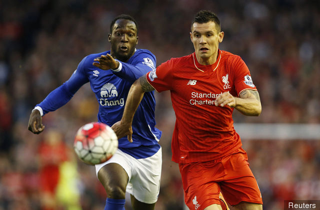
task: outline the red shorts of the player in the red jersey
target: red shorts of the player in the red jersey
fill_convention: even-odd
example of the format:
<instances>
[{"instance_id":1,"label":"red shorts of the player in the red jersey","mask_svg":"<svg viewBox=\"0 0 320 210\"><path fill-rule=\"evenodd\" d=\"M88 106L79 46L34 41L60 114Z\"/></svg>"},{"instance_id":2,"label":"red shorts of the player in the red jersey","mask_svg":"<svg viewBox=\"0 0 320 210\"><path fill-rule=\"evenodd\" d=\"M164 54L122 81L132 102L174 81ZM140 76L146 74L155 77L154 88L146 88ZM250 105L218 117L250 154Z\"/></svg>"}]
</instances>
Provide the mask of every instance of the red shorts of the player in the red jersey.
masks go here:
<instances>
[{"instance_id":1,"label":"red shorts of the player in the red jersey","mask_svg":"<svg viewBox=\"0 0 320 210\"><path fill-rule=\"evenodd\" d=\"M220 204L219 193L230 205L262 204L261 193L249 168L246 153L198 163L179 164L184 202L190 210Z\"/></svg>"}]
</instances>

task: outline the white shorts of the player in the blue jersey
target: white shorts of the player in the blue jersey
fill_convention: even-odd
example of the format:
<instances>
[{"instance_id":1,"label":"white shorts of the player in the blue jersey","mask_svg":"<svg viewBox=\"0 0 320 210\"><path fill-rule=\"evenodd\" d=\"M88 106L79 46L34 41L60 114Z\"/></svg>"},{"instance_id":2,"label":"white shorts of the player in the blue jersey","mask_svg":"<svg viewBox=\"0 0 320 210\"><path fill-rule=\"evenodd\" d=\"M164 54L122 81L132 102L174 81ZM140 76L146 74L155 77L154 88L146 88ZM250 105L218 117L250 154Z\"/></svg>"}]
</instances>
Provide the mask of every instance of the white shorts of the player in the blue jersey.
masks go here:
<instances>
[{"instance_id":1,"label":"white shorts of the player in the blue jersey","mask_svg":"<svg viewBox=\"0 0 320 210\"><path fill-rule=\"evenodd\" d=\"M108 161L95 165L96 176L98 171L109 163L119 164L127 173L129 177L127 193L146 204L157 201L160 190L162 148L151 157L142 159L135 159L117 149Z\"/></svg>"}]
</instances>

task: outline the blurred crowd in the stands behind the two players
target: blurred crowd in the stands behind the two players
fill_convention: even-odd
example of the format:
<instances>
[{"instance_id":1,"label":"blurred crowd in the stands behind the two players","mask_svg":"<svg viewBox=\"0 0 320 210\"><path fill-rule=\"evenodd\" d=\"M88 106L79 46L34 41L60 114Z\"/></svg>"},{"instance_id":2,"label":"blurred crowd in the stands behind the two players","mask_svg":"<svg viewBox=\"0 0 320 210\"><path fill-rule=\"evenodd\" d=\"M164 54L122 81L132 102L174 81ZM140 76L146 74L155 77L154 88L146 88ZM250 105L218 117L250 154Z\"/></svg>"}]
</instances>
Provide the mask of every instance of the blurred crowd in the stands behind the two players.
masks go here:
<instances>
[{"instance_id":1,"label":"blurred crowd in the stands behind the two players","mask_svg":"<svg viewBox=\"0 0 320 210\"><path fill-rule=\"evenodd\" d=\"M76 130L96 121L89 85L45 115L39 135L27 130L29 114L84 56L110 48L116 15L137 20L137 47L153 52L159 65L193 52L190 23L199 9L218 15L219 48L242 57L260 94L261 115L235 111L235 123L320 123L318 0L0 0L0 210L103 209L106 195L94 167L72 149ZM170 160L174 113L168 92L155 96L163 131L156 210L183 210L180 175ZM264 210L283 209L283 200L320 200L320 141L242 143Z\"/></svg>"}]
</instances>

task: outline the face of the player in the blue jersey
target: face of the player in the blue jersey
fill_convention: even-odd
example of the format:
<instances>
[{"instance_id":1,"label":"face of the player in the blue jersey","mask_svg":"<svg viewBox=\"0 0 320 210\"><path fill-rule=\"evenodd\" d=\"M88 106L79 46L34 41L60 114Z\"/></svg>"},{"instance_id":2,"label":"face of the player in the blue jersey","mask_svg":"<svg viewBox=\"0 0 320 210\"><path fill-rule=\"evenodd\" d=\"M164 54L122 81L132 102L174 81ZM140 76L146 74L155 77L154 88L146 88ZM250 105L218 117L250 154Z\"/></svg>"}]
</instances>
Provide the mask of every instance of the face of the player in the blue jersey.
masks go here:
<instances>
[{"instance_id":1,"label":"face of the player in the blue jersey","mask_svg":"<svg viewBox=\"0 0 320 210\"><path fill-rule=\"evenodd\" d=\"M126 62L133 54L138 43L136 25L128 19L117 19L109 34L111 56Z\"/></svg>"}]
</instances>

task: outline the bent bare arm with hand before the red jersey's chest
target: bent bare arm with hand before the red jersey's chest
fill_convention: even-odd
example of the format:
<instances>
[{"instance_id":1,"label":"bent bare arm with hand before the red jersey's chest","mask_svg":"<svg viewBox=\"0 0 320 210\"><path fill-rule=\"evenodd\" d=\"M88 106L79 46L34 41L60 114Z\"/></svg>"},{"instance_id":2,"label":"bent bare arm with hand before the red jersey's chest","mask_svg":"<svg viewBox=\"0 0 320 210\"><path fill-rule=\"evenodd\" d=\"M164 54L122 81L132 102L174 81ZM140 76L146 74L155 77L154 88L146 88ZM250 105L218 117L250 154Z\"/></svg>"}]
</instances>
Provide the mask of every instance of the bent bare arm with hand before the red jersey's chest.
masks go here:
<instances>
[{"instance_id":1,"label":"bent bare arm with hand before the red jersey's chest","mask_svg":"<svg viewBox=\"0 0 320 210\"><path fill-rule=\"evenodd\" d=\"M229 106L247 116L259 116L261 113L261 102L259 93L256 90L243 90L239 97L232 96L229 92L219 95L215 106Z\"/></svg>"}]
</instances>

